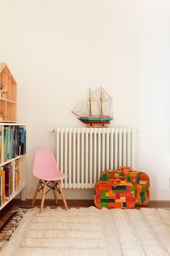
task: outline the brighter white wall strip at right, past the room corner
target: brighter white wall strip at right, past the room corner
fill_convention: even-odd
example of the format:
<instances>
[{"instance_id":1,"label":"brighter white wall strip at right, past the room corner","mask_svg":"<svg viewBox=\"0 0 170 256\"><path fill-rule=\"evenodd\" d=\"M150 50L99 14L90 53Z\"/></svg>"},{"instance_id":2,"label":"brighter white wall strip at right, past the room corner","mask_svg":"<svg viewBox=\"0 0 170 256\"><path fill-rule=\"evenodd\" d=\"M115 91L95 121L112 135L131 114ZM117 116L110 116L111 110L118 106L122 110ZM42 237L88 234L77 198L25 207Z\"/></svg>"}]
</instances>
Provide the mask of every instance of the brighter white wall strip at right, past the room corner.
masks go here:
<instances>
[{"instance_id":1,"label":"brighter white wall strip at right, past the room corner","mask_svg":"<svg viewBox=\"0 0 170 256\"><path fill-rule=\"evenodd\" d=\"M170 1L140 1L139 9L139 166L151 197L170 200Z\"/></svg>"}]
</instances>

